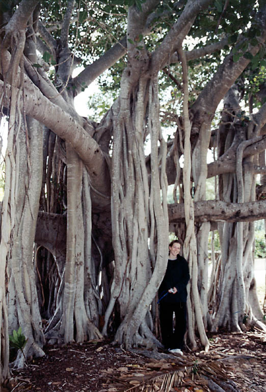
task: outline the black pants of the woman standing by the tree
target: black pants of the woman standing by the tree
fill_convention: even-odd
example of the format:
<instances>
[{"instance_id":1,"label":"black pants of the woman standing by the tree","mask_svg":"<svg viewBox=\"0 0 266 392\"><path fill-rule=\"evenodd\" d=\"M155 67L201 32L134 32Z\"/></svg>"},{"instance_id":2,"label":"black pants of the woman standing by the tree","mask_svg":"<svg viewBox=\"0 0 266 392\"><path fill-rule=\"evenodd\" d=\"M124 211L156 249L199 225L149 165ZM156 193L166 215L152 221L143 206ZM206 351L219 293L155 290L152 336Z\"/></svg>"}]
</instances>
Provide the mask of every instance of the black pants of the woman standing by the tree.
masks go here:
<instances>
[{"instance_id":1,"label":"black pants of the woman standing by the tree","mask_svg":"<svg viewBox=\"0 0 266 392\"><path fill-rule=\"evenodd\" d=\"M173 329L173 314L175 313L175 328ZM163 345L166 349L182 349L184 334L187 329L187 304L160 304L160 324Z\"/></svg>"}]
</instances>

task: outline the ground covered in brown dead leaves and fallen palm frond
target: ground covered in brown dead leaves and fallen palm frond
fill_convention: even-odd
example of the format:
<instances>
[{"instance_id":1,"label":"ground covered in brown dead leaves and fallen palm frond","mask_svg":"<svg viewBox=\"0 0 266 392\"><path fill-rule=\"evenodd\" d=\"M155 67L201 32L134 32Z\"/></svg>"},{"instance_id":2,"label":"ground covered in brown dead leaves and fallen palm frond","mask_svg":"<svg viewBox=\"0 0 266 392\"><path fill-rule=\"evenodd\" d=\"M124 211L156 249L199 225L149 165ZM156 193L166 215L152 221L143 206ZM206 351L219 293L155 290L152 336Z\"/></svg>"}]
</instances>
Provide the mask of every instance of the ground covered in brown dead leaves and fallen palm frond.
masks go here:
<instances>
[{"instance_id":1,"label":"ground covered in brown dead leaves and fallen palm frond","mask_svg":"<svg viewBox=\"0 0 266 392\"><path fill-rule=\"evenodd\" d=\"M2 392L266 391L265 333L208 337L208 353L187 348L182 357L162 351L129 352L107 340L46 346L43 358L32 360L23 370L12 370L13 382ZM175 384L169 388L171 377Z\"/></svg>"}]
</instances>

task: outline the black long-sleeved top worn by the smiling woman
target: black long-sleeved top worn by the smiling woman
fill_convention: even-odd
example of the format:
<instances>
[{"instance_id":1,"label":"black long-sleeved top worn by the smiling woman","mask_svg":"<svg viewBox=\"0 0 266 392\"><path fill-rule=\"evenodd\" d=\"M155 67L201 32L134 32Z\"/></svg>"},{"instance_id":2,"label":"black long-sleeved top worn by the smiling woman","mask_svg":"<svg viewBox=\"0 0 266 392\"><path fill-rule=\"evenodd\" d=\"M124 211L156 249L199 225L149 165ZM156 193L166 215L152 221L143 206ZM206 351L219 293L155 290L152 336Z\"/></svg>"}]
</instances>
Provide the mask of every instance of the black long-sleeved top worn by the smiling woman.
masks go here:
<instances>
[{"instance_id":1,"label":"black long-sleeved top worn by the smiling woman","mask_svg":"<svg viewBox=\"0 0 266 392\"><path fill-rule=\"evenodd\" d=\"M160 303L171 303L187 301L187 284L190 280L189 265L187 260L182 256L177 255L175 260L168 259L167 269L165 277L159 287L158 296L159 299L168 292L169 288L176 287L177 292L175 294L168 293Z\"/></svg>"}]
</instances>

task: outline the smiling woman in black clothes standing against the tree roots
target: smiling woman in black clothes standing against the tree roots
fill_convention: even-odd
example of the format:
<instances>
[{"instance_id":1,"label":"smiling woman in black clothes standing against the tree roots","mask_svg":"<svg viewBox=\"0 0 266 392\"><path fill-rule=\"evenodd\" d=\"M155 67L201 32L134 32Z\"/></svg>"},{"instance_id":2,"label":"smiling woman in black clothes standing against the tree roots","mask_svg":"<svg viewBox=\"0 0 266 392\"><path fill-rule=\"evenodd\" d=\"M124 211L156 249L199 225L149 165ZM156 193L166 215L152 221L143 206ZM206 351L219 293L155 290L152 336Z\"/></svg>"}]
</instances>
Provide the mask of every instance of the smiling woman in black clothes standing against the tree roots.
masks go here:
<instances>
[{"instance_id":1,"label":"smiling woman in black clothes standing against the tree roots","mask_svg":"<svg viewBox=\"0 0 266 392\"><path fill-rule=\"evenodd\" d=\"M187 260L179 255L181 243L169 244L165 277L159 287L159 310L162 339L168 351L183 355L184 334L187 329L187 284L190 280ZM173 314L175 328L173 330Z\"/></svg>"}]
</instances>

